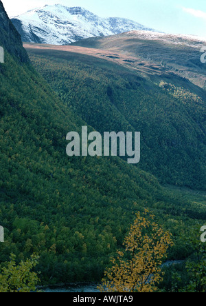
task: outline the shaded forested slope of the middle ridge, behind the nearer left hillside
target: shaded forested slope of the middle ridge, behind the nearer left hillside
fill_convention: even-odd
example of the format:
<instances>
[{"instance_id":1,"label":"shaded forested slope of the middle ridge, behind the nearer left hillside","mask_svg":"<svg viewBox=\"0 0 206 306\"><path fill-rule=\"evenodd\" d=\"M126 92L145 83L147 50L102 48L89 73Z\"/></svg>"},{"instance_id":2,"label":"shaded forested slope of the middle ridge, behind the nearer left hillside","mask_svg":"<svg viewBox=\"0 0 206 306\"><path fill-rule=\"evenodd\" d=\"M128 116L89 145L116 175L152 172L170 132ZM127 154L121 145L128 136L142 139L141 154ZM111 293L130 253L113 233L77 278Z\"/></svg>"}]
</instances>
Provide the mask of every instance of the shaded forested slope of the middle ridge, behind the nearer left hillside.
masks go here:
<instances>
[{"instance_id":1,"label":"shaded forested slope of the middle ridge, behind the nearer left hillside","mask_svg":"<svg viewBox=\"0 0 206 306\"><path fill-rule=\"evenodd\" d=\"M110 61L43 48L28 52L62 101L95 130L141 132L138 167L161 183L205 190L203 90L201 97L183 88L181 96L172 95L161 78L152 83Z\"/></svg>"}]
</instances>

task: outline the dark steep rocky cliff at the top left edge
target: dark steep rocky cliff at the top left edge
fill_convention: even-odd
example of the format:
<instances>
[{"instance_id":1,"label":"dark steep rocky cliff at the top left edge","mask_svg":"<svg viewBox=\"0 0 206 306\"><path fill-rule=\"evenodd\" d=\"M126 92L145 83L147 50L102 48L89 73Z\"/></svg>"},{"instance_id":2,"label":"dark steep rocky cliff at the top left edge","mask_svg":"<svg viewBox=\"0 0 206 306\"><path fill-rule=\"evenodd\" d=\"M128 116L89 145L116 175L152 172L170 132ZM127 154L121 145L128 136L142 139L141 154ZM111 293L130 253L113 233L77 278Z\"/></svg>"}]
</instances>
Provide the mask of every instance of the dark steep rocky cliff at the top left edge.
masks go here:
<instances>
[{"instance_id":1,"label":"dark steep rocky cliff at the top left edge","mask_svg":"<svg viewBox=\"0 0 206 306\"><path fill-rule=\"evenodd\" d=\"M21 36L14 28L8 14L0 1L0 46L22 63L29 62L27 52L23 48Z\"/></svg>"}]
</instances>

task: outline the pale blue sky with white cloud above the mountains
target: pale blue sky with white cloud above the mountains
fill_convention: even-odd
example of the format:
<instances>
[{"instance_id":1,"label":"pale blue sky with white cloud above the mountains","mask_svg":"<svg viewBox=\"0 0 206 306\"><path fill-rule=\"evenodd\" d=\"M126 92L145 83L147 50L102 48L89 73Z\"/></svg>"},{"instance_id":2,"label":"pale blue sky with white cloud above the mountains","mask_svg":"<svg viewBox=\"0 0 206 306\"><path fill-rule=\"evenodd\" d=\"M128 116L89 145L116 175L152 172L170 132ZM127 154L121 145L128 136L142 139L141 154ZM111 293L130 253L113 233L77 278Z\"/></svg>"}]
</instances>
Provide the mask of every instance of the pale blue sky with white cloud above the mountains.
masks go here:
<instances>
[{"instance_id":1,"label":"pale blue sky with white cloud above the mountains","mask_svg":"<svg viewBox=\"0 0 206 306\"><path fill-rule=\"evenodd\" d=\"M206 0L3 0L9 17L57 3L82 6L100 17L125 17L166 33L206 38Z\"/></svg>"}]
</instances>

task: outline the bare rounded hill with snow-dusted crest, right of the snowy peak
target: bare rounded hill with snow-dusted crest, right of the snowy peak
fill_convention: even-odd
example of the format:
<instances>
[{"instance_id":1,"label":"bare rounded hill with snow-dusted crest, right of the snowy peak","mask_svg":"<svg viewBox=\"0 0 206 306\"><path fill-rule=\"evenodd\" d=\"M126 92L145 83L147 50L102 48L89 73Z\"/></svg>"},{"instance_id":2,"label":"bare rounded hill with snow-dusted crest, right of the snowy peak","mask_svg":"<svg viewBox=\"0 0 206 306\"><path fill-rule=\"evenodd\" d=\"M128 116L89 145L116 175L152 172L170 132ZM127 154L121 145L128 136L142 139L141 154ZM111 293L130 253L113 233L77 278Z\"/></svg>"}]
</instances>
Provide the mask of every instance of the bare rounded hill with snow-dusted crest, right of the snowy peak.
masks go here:
<instances>
[{"instance_id":1,"label":"bare rounded hill with snow-dusted crest, right of the snowy peak","mask_svg":"<svg viewBox=\"0 0 206 306\"><path fill-rule=\"evenodd\" d=\"M201 63L201 48L205 43L205 39L190 35L132 31L113 37L85 39L74 45L132 57L128 62L131 68L139 68L139 64L143 68L148 64L159 65L161 69L206 88L206 64Z\"/></svg>"}]
</instances>

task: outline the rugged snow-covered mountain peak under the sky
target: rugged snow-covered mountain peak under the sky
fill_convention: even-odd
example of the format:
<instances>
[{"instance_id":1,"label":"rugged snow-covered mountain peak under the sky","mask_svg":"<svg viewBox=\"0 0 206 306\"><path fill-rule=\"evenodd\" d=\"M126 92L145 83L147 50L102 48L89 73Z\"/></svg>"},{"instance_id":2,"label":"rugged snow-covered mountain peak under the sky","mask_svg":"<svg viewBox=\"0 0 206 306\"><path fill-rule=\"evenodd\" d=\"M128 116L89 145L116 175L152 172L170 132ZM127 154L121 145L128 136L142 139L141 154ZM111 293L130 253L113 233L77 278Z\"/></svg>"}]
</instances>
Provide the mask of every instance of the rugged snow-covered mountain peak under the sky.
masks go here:
<instances>
[{"instance_id":1,"label":"rugged snow-covered mountain peak under the sky","mask_svg":"<svg viewBox=\"0 0 206 306\"><path fill-rule=\"evenodd\" d=\"M84 8L60 4L30 10L11 20L23 41L55 45L132 30L153 31L129 19L100 18Z\"/></svg>"}]
</instances>

